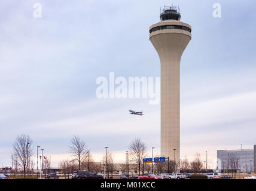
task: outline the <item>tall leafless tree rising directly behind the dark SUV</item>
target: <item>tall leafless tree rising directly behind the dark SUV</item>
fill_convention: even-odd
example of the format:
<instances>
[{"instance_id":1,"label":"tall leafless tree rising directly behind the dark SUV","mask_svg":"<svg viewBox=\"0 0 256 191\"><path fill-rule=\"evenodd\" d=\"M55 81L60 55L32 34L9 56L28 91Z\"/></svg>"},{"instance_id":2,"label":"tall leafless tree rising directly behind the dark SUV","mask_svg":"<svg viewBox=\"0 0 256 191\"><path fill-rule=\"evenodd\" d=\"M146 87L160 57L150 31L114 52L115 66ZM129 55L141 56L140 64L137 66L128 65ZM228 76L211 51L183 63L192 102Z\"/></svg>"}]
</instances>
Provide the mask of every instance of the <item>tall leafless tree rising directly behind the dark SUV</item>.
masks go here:
<instances>
[{"instance_id":1,"label":"tall leafless tree rising directly behind the dark SUV","mask_svg":"<svg viewBox=\"0 0 256 191\"><path fill-rule=\"evenodd\" d=\"M81 170L81 162L86 159L86 156L89 153L86 143L84 143L80 137L74 135L74 137L71 138L71 145L69 145L69 153L71 153L72 156L74 156L74 158L77 160L78 170Z\"/></svg>"}]
</instances>

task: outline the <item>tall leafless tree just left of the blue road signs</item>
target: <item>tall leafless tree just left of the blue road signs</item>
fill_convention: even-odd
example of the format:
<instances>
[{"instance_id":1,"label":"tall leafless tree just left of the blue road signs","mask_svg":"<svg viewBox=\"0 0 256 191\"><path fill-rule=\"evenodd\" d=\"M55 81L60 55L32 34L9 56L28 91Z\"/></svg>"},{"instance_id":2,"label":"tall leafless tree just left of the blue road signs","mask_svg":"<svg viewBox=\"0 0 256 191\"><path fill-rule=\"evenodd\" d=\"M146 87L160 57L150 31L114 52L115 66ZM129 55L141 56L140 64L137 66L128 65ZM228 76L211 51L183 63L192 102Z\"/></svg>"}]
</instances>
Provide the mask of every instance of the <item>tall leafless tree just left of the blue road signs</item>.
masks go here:
<instances>
[{"instance_id":1,"label":"tall leafless tree just left of the blue road signs","mask_svg":"<svg viewBox=\"0 0 256 191\"><path fill-rule=\"evenodd\" d=\"M139 138L135 138L129 146L132 161L138 165L139 175L141 174L142 159L145 158L147 147Z\"/></svg>"}]
</instances>

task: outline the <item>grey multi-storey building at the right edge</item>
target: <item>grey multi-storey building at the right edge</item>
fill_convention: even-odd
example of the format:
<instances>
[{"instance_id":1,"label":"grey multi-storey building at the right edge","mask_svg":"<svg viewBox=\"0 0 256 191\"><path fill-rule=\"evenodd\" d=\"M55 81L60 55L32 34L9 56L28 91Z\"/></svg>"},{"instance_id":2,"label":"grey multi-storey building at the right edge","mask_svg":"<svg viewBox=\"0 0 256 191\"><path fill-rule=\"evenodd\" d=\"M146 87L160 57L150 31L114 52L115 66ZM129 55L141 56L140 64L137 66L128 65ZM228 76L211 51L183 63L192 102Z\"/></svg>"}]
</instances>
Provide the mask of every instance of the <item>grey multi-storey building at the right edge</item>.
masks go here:
<instances>
[{"instance_id":1,"label":"grey multi-storey building at the right edge","mask_svg":"<svg viewBox=\"0 0 256 191\"><path fill-rule=\"evenodd\" d=\"M217 158L221 162L218 170L231 172L236 169L240 172L256 171L256 144L253 149L217 150ZM255 167L255 168L254 168Z\"/></svg>"}]
</instances>

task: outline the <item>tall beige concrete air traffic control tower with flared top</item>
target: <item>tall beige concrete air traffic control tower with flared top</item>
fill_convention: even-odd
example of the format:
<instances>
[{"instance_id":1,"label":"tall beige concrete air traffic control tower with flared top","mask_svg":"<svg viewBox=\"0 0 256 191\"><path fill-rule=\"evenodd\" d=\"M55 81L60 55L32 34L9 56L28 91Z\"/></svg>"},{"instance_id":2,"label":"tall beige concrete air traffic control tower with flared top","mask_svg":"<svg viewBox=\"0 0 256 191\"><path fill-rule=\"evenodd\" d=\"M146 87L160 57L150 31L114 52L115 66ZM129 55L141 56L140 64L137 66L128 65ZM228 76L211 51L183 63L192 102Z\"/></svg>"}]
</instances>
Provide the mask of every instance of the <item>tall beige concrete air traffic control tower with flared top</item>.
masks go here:
<instances>
[{"instance_id":1,"label":"tall beige concrete air traffic control tower with flared top","mask_svg":"<svg viewBox=\"0 0 256 191\"><path fill-rule=\"evenodd\" d=\"M180 21L176 7L164 7L160 19L150 27L150 41L161 61L161 156L179 163L180 61L191 40L191 26Z\"/></svg>"}]
</instances>

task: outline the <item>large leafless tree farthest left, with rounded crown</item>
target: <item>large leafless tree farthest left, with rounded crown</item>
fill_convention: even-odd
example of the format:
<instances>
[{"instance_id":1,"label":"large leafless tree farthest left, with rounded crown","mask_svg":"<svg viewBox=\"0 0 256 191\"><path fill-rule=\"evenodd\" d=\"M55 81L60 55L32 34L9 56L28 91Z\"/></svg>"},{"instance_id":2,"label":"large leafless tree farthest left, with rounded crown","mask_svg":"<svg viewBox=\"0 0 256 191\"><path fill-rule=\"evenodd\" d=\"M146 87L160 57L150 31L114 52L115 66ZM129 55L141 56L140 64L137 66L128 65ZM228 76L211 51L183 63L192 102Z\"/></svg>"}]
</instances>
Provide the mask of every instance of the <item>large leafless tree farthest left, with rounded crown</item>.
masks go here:
<instances>
[{"instance_id":1,"label":"large leafless tree farthest left, with rounded crown","mask_svg":"<svg viewBox=\"0 0 256 191\"><path fill-rule=\"evenodd\" d=\"M32 154L32 139L28 135L18 135L13 143L13 156L17 158L17 164L23 169L24 177L26 177L28 161Z\"/></svg>"}]
</instances>

